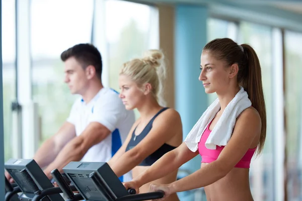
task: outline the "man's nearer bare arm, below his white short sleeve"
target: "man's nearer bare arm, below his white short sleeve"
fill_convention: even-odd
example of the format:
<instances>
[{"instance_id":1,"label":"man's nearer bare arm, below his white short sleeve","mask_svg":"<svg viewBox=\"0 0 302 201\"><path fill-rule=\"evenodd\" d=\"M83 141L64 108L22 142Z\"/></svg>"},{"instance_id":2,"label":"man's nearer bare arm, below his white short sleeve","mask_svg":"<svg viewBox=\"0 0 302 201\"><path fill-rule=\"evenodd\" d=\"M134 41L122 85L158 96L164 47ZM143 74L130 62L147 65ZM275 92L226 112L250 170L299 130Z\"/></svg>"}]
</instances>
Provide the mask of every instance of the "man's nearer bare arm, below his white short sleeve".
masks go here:
<instances>
[{"instance_id":1,"label":"man's nearer bare arm, below his white short sleeve","mask_svg":"<svg viewBox=\"0 0 302 201\"><path fill-rule=\"evenodd\" d=\"M48 178L51 178L50 172L53 169L62 169L70 161L79 161L83 158L86 152L94 145L105 139L111 131L98 122L90 123L83 133L73 138L66 146L60 151L55 160L49 164L44 170Z\"/></svg>"}]
</instances>

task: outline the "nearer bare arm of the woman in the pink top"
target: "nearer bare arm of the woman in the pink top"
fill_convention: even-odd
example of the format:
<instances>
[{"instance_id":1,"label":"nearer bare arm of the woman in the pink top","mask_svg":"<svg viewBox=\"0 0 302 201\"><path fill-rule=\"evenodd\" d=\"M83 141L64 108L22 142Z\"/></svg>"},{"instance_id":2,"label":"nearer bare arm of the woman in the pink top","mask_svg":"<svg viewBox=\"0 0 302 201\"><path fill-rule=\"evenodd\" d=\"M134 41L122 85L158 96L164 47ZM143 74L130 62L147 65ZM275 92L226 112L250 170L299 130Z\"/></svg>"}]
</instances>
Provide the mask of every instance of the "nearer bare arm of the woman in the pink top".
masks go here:
<instances>
[{"instance_id":1,"label":"nearer bare arm of the woman in the pink top","mask_svg":"<svg viewBox=\"0 0 302 201\"><path fill-rule=\"evenodd\" d=\"M248 151L256 136L261 133L261 119L254 109L245 110L238 118L232 138L216 161L168 185L162 185L167 194L207 186L228 174ZM154 190L161 189L154 187Z\"/></svg>"}]
</instances>

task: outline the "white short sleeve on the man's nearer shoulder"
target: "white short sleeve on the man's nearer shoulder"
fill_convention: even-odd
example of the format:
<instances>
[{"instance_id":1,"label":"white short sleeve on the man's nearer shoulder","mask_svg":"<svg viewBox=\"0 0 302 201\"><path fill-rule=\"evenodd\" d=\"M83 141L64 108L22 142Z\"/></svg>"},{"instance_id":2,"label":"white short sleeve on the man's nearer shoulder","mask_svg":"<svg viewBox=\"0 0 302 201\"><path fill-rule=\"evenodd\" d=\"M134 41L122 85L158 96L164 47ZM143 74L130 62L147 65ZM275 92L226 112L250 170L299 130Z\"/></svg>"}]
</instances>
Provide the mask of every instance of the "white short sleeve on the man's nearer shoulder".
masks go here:
<instances>
[{"instance_id":1,"label":"white short sleeve on the man's nearer shoulder","mask_svg":"<svg viewBox=\"0 0 302 201\"><path fill-rule=\"evenodd\" d=\"M94 105L90 122L98 122L113 132L120 120L125 118L126 109L117 94L110 91L107 93Z\"/></svg>"}]
</instances>

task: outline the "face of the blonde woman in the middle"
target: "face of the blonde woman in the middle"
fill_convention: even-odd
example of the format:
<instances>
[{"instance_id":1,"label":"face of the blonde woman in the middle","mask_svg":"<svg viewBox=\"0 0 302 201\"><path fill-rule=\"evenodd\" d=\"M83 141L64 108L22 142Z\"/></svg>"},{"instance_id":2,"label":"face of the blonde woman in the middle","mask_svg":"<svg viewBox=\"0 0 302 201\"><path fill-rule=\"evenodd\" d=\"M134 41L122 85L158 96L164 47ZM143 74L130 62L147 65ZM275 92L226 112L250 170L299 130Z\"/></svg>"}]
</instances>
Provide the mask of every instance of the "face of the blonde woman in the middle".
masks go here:
<instances>
[{"instance_id":1,"label":"face of the blonde woman in the middle","mask_svg":"<svg viewBox=\"0 0 302 201\"><path fill-rule=\"evenodd\" d=\"M129 76L121 74L118 82L121 89L119 97L127 110L133 110L144 103L146 94Z\"/></svg>"}]
</instances>

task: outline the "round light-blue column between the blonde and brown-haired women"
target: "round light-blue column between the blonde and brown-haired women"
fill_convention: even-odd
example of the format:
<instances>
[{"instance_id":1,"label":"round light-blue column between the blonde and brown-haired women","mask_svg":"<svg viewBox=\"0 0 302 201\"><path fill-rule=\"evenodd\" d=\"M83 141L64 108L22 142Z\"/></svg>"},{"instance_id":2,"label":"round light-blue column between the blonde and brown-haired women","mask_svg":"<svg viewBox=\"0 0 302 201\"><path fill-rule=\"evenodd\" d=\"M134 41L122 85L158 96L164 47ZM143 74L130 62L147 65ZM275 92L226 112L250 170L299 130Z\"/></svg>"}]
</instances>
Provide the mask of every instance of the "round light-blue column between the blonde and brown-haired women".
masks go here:
<instances>
[{"instance_id":1,"label":"round light-blue column between the blonde and brown-haired women","mask_svg":"<svg viewBox=\"0 0 302 201\"><path fill-rule=\"evenodd\" d=\"M200 55L207 42L206 7L178 5L175 10L175 96L183 123L184 139L206 110L207 95L200 74ZM191 172L200 168L201 157L182 166Z\"/></svg>"}]
</instances>

